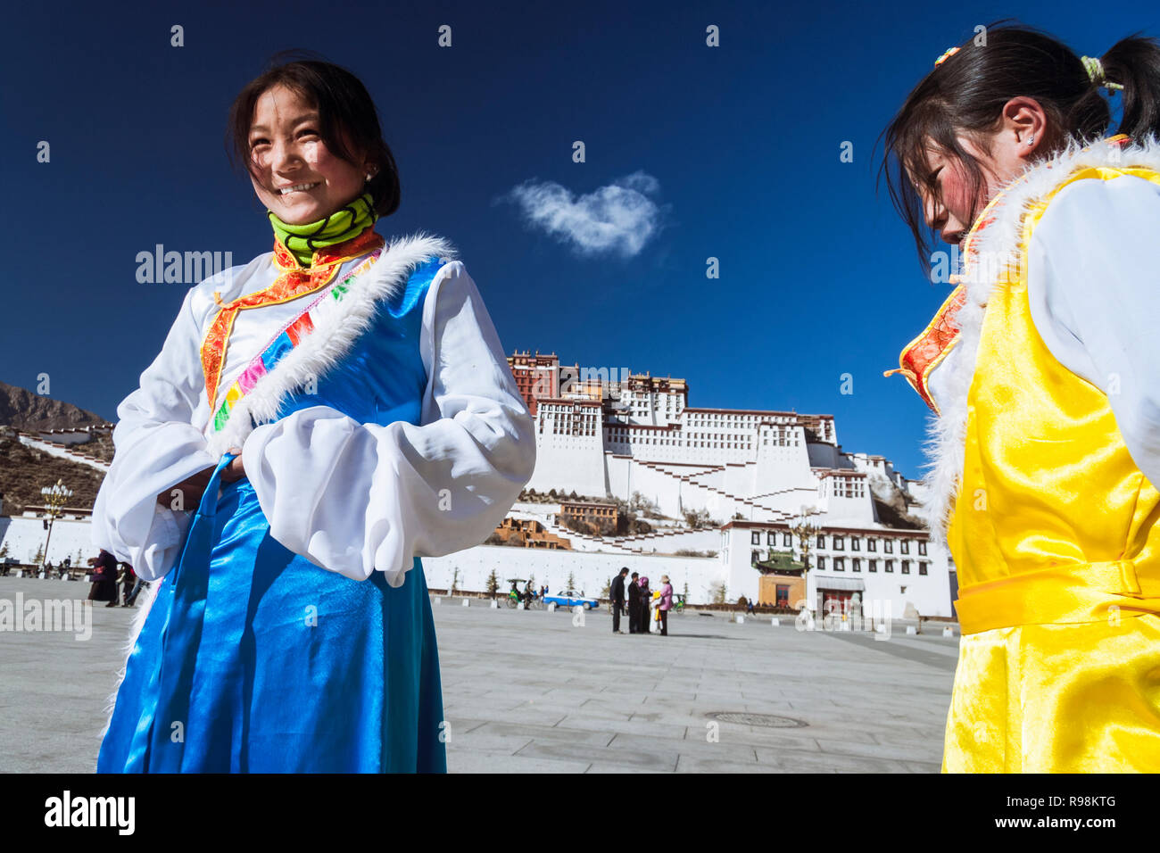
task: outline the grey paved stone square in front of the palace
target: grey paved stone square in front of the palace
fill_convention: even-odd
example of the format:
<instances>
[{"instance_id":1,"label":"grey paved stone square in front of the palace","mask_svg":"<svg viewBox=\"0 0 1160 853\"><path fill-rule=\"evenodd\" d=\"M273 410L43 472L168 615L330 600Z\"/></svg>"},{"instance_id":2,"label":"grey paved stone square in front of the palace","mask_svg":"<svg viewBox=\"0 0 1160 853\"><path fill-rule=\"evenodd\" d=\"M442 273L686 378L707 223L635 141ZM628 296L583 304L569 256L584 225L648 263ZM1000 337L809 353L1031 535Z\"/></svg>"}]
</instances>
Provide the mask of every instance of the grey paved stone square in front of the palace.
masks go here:
<instances>
[{"instance_id":1,"label":"grey paved stone square in front of the palace","mask_svg":"<svg viewBox=\"0 0 1160 853\"><path fill-rule=\"evenodd\" d=\"M0 578L0 599L86 585ZM614 635L607 613L434 608L451 772L938 771L957 639L876 641L673 616L668 637ZM92 772L132 610L92 638L0 632L0 772ZM628 629L626 620L622 623ZM715 722L717 713L804 723Z\"/></svg>"}]
</instances>

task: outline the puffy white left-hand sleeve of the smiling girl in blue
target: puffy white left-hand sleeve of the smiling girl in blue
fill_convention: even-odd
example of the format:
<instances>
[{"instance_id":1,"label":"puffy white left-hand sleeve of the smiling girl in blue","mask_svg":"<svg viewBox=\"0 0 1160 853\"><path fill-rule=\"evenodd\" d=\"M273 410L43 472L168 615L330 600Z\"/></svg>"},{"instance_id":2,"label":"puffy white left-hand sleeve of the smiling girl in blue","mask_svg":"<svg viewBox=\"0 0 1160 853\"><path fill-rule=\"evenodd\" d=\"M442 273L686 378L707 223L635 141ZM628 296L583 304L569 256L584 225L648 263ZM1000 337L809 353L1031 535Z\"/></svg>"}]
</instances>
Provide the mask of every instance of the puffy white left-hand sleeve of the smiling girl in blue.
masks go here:
<instances>
[{"instance_id":1,"label":"puffy white left-hand sleeve of the smiling girl in blue","mask_svg":"<svg viewBox=\"0 0 1160 853\"><path fill-rule=\"evenodd\" d=\"M116 451L93 505L93 544L132 565L145 580L173 568L189 527L187 512L161 506L157 496L215 463L194 426L205 385L194 292L186 294L140 386L117 407Z\"/></svg>"}]
</instances>

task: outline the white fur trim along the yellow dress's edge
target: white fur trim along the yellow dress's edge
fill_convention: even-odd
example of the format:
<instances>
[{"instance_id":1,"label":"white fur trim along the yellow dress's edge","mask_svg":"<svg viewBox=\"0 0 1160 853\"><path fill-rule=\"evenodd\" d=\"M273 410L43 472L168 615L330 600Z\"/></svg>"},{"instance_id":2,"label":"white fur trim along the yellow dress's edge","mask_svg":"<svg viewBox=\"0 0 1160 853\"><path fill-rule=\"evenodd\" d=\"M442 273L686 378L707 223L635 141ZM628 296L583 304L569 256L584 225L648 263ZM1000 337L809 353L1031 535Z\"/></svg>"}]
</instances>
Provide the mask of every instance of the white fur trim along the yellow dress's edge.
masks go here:
<instances>
[{"instance_id":1,"label":"white fur trim along the yellow dress's edge","mask_svg":"<svg viewBox=\"0 0 1160 853\"><path fill-rule=\"evenodd\" d=\"M959 338L955 349L958 352L950 353L935 368L949 371L945 400L938 400L942 415L930 415L925 447L930 468L923 478L929 494L925 515L930 538L936 544L947 543L947 527L963 475L966 400L974 379L983 318L998 273L1020 261L1017 253L1023 239L1024 215L1073 172L1093 166L1143 166L1160 172L1160 142L1148 139L1123 147L1097 142L1086 149L1073 143L1057 157L1030 167L1007 183L1001 190L1002 197L989 211L994 222L978 233L978 248L972 254L979 262L966 270L966 302L957 315Z\"/></svg>"}]
</instances>

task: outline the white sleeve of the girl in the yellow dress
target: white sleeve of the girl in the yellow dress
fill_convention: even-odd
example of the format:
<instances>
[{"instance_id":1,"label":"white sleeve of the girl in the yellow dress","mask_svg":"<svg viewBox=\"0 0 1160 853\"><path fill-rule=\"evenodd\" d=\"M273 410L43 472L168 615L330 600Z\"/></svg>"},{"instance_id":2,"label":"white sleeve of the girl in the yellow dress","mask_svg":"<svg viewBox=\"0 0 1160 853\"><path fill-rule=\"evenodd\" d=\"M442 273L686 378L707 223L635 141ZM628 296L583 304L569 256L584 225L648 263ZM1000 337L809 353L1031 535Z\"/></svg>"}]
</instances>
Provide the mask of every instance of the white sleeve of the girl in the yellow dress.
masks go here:
<instances>
[{"instance_id":1,"label":"white sleeve of the girl in the yellow dress","mask_svg":"<svg viewBox=\"0 0 1160 853\"><path fill-rule=\"evenodd\" d=\"M1108 395L1160 487L1160 187L1131 175L1059 191L1031 233L1028 297L1051 354Z\"/></svg>"}]
</instances>

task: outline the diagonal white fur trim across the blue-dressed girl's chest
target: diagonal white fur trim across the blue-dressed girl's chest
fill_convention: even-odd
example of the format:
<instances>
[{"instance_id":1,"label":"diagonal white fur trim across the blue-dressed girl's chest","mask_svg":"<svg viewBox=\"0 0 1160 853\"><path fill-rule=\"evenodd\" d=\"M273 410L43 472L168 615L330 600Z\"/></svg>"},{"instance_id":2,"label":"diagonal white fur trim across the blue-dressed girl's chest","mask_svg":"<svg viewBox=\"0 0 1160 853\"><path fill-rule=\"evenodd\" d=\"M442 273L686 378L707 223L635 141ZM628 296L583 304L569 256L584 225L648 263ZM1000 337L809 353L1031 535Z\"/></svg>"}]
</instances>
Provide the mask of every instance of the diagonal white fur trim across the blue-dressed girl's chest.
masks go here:
<instances>
[{"instance_id":1,"label":"diagonal white fur trim across the blue-dressed girl's chest","mask_svg":"<svg viewBox=\"0 0 1160 853\"><path fill-rule=\"evenodd\" d=\"M238 400L225 429L210 434L209 454L220 458L231 447L241 447L253 432L251 419L256 424L273 421L288 393L312 378L317 381L342 361L358 337L370 328L376 303L406 287L412 270L433 255L447 262L455 258L455 250L443 238L422 233L397 238L384 247L375 265L342 297L335 310L326 313L313 332Z\"/></svg>"}]
</instances>

